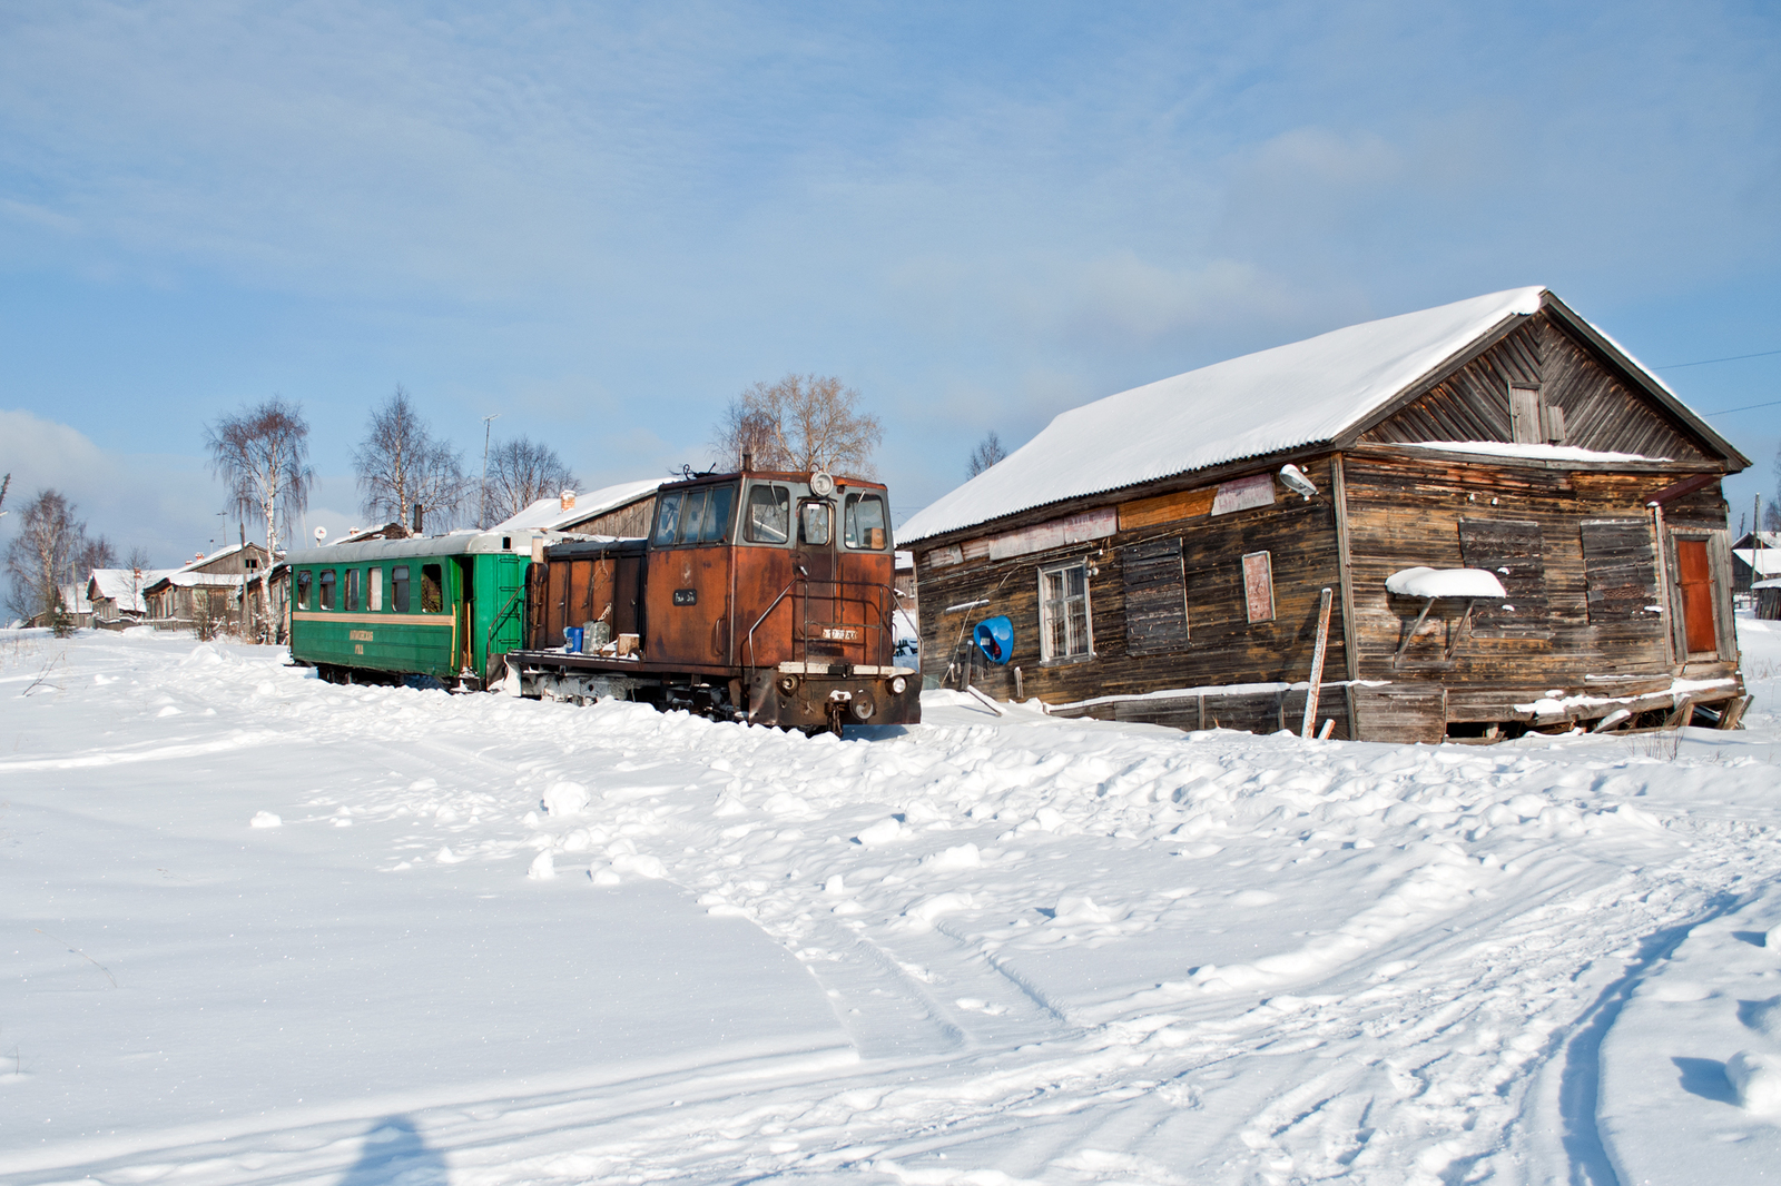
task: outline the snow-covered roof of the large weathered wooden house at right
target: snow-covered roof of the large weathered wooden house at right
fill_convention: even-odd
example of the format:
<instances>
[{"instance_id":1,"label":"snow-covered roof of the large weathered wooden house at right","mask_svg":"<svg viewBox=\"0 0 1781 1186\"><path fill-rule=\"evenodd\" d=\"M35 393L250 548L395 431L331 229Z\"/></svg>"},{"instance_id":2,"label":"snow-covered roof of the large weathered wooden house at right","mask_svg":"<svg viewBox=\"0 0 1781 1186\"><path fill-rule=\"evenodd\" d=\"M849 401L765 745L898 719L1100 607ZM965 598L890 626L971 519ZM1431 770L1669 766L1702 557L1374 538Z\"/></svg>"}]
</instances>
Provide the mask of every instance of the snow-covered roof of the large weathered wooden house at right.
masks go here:
<instances>
[{"instance_id":1,"label":"snow-covered roof of the large weathered wooden house at right","mask_svg":"<svg viewBox=\"0 0 1781 1186\"><path fill-rule=\"evenodd\" d=\"M1532 315L1542 303L1557 306L1542 287L1492 292L1332 329L1072 408L1031 442L910 516L898 541L907 545L1065 499L1336 440L1414 385L1435 378L1443 363L1505 321ZM1569 310L1564 313L1587 326ZM1606 335L1587 329L1619 351ZM1621 354L1640 383L1687 415L1662 379Z\"/></svg>"}]
</instances>

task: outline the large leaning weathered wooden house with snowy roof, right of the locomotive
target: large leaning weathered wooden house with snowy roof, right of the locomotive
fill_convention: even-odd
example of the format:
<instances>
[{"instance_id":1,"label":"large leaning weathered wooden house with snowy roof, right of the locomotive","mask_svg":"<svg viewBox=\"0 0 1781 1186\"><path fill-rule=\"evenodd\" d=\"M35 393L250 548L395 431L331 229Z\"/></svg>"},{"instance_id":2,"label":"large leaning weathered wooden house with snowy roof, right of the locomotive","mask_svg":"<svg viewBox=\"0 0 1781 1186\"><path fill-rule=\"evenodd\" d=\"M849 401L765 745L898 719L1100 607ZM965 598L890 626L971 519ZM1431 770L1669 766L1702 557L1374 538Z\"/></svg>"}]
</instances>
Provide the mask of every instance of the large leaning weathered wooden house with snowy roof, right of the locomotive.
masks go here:
<instances>
[{"instance_id":1,"label":"large leaning weathered wooden house with snowy roof, right of the locomotive","mask_svg":"<svg viewBox=\"0 0 1781 1186\"><path fill-rule=\"evenodd\" d=\"M1322 634L1311 727L1339 737L1735 723L1747 465L1521 288L1065 411L899 547L928 682L1063 714L1298 730ZM1010 643L974 646L990 618Z\"/></svg>"}]
</instances>

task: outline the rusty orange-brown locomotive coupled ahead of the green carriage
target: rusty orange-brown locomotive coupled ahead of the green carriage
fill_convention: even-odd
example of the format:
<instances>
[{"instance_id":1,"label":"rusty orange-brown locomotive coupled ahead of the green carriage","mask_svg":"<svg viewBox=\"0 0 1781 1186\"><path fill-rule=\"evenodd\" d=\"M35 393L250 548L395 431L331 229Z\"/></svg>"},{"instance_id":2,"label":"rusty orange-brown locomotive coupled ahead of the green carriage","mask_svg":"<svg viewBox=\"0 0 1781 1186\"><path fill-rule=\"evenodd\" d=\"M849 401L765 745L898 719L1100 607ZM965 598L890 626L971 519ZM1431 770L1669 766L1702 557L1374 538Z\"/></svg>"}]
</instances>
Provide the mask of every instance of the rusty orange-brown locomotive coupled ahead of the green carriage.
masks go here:
<instances>
[{"instance_id":1,"label":"rusty orange-brown locomotive coupled ahead of the green carriage","mask_svg":"<svg viewBox=\"0 0 1781 1186\"><path fill-rule=\"evenodd\" d=\"M664 484L643 540L543 545L525 577L525 696L618 696L809 732L921 719L894 662L890 508L853 477Z\"/></svg>"}]
</instances>

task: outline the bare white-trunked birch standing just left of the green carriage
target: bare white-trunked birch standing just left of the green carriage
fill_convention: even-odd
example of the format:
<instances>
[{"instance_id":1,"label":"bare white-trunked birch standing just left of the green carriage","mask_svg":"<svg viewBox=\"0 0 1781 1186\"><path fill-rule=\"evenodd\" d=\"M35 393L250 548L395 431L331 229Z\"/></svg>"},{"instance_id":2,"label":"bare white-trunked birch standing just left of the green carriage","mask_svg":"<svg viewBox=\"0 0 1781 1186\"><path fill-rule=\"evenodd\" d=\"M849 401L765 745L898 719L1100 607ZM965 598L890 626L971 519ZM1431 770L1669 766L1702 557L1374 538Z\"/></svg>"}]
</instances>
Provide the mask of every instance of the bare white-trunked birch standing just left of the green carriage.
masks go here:
<instances>
[{"instance_id":1,"label":"bare white-trunked birch standing just left of the green carriage","mask_svg":"<svg viewBox=\"0 0 1781 1186\"><path fill-rule=\"evenodd\" d=\"M210 468L228 484L240 515L265 520L265 550L278 556L280 534L310 504L310 426L301 404L278 395L205 427Z\"/></svg>"}]
</instances>

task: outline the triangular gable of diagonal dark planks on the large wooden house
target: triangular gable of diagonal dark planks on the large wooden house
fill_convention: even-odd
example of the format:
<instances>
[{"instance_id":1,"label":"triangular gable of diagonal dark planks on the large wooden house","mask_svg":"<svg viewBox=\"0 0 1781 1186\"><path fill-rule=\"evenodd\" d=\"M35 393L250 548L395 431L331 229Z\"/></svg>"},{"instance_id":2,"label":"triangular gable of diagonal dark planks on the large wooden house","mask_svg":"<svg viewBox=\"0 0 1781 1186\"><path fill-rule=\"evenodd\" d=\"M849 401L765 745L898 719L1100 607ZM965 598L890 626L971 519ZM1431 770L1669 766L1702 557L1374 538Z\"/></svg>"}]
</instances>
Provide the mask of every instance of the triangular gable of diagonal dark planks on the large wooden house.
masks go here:
<instances>
[{"instance_id":1,"label":"triangular gable of diagonal dark planks on the large wooden house","mask_svg":"<svg viewBox=\"0 0 1781 1186\"><path fill-rule=\"evenodd\" d=\"M1485 344L1471 361L1432 388L1384 410L1355 440L1386 445L1512 443L1517 440L1512 386L1537 390L1539 404L1562 415L1562 435L1553 433L1548 422L1537 427L1539 443L1667 458L1685 465L1731 459L1549 308Z\"/></svg>"}]
</instances>

